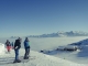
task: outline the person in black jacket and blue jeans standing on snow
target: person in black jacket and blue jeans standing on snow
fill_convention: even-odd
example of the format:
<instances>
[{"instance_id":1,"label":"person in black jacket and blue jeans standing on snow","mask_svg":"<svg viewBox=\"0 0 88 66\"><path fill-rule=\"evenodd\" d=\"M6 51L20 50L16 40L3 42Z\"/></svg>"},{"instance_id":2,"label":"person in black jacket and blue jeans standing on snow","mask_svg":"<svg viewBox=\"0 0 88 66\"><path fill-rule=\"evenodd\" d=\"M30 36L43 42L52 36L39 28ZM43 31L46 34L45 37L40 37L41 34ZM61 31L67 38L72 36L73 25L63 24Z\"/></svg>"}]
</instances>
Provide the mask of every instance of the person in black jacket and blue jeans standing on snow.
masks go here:
<instances>
[{"instance_id":1,"label":"person in black jacket and blue jeans standing on snow","mask_svg":"<svg viewBox=\"0 0 88 66\"><path fill-rule=\"evenodd\" d=\"M14 43L14 52L15 52L15 59L13 63L20 63L21 61L19 59L19 50L21 47L21 38L19 37L18 40L15 40Z\"/></svg>"}]
</instances>

